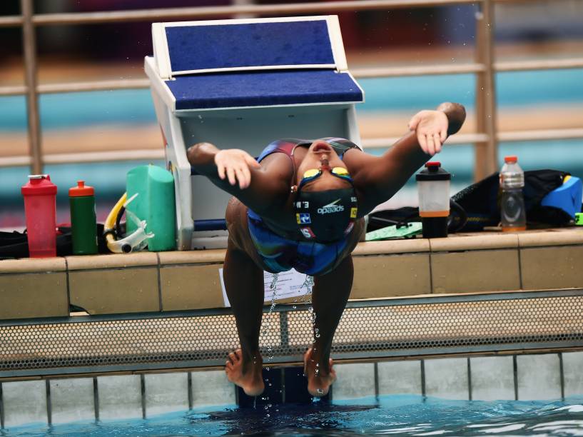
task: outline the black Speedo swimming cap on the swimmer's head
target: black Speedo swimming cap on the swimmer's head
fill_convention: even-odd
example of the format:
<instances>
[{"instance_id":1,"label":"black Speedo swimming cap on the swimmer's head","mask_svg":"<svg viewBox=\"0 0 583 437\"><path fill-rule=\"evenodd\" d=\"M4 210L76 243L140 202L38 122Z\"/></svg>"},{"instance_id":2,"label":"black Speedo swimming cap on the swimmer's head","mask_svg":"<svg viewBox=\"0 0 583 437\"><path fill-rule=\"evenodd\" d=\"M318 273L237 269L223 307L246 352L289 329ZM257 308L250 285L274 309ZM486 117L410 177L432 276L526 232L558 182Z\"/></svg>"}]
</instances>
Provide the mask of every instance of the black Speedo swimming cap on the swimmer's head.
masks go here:
<instances>
[{"instance_id":1,"label":"black Speedo swimming cap on the swimmer's head","mask_svg":"<svg viewBox=\"0 0 583 437\"><path fill-rule=\"evenodd\" d=\"M300 191L294 202L295 220L305 238L338 241L353 230L357 206L352 188Z\"/></svg>"}]
</instances>

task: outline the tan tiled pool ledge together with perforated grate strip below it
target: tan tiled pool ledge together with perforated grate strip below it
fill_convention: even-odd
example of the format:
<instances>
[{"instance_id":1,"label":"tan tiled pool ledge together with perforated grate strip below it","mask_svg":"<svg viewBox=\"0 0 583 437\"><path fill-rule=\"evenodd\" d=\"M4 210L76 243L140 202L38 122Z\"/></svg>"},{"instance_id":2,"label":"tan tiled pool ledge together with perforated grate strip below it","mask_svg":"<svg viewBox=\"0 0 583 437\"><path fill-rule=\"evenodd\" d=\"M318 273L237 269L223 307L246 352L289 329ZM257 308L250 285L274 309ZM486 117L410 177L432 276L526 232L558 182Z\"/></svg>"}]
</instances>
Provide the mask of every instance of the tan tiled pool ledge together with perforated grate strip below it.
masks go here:
<instances>
[{"instance_id":1,"label":"tan tiled pool ledge together with perforated grate strip below it","mask_svg":"<svg viewBox=\"0 0 583 437\"><path fill-rule=\"evenodd\" d=\"M237 346L223 249L0 262L0 378L220 366ZM337 358L583 348L583 229L360 243ZM308 298L268 313L263 347L294 363Z\"/></svg>"}]
</instances>

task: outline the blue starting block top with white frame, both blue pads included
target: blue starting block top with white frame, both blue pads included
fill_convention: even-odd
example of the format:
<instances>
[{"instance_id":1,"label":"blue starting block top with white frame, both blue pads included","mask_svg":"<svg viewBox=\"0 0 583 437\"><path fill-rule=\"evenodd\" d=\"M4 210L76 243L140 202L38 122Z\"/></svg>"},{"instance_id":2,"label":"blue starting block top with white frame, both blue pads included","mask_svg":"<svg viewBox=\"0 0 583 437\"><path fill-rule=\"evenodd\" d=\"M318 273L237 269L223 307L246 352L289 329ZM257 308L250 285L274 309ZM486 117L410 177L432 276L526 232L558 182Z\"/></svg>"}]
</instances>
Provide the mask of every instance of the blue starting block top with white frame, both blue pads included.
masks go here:
<instances>
[{"instance_id":1,"label":"blue starting block top with white frame, both blue pads included","mask_svg":"<svg viewBox=\"0 0 583 437\"><path fill-rule=\"evenodd\" d=\"M335 16L155 24L153 39L175 111L364 101Z\"/></svg>"}]
</instances>

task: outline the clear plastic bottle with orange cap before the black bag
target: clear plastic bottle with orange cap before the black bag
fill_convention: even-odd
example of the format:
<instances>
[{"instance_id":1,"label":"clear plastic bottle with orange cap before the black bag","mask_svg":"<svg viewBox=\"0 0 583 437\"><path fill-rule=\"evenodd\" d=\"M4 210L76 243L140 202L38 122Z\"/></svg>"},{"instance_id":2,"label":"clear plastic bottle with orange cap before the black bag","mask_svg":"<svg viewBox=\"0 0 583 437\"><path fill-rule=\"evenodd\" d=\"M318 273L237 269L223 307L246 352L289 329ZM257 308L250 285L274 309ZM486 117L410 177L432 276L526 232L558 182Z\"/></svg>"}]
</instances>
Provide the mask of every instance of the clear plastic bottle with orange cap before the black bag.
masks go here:
<instances>
[{"instance_id":1,"label":"clear plastic bottle with orange cap before the black bag","mask_svg":"<svg viewBox=\"0 0 583 437\"><path fill-rule=\"evenodd\" d=\"M524 231L527 228L527 215L524 210L524 171L518 165L516 156L505 156L500 171L500 221L502 231Z\"/></svg>"}]
</instances>

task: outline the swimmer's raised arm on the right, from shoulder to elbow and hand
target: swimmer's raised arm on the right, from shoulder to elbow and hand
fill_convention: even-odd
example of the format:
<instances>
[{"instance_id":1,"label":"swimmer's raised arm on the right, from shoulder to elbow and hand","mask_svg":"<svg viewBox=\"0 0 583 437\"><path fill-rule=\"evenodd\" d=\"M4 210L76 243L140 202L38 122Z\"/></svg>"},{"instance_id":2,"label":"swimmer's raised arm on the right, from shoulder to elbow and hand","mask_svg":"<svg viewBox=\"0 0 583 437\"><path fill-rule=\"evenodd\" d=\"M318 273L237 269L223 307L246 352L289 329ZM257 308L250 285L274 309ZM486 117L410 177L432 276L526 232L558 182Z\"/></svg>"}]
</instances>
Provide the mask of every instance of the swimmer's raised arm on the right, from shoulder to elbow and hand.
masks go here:
<instances>
[{"instance_id":1,"label":"swimmer's raised arm on the right, from shoulder to elbow and hand","mask_svg":"<svg viewBox=\"0 0 583 437\"><path fill-rule=\"evenodd\" d=\"M344 161L357 191L358 215L368 214L397 193L420 166L441 151L443 141L459 131L464 121L464 106L443 103L435 111L415 114L410 132L382 156L348 151Z\"/></svg>"}]
</instances>

